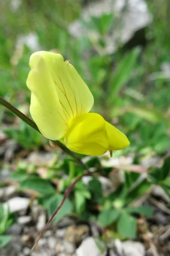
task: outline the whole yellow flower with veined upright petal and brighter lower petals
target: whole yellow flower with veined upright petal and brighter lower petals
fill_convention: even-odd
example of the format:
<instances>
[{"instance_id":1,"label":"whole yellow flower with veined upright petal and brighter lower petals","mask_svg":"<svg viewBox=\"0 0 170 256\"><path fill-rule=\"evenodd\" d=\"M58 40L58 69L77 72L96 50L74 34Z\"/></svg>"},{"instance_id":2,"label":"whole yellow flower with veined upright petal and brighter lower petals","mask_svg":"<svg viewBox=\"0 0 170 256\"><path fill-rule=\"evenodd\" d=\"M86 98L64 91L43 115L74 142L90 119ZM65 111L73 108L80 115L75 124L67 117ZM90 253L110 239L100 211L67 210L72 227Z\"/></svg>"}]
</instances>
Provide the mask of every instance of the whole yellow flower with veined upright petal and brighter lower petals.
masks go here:
<instances>
[{"instance_id":1,"label":"whole yellow flower with veined upright petal and brighter lower petals","mask_svg":"<svg viewBox=\"0 0 170 256\"><path fill-rule=\"evenodd\" d=\"M88 113L93 95L69 61L64 62L60 54L40 51L31 55L29 65L30 113L46 138L64 137L70 150L92 156L130 144L102 116Z\"/></svg>"}]
</instances>

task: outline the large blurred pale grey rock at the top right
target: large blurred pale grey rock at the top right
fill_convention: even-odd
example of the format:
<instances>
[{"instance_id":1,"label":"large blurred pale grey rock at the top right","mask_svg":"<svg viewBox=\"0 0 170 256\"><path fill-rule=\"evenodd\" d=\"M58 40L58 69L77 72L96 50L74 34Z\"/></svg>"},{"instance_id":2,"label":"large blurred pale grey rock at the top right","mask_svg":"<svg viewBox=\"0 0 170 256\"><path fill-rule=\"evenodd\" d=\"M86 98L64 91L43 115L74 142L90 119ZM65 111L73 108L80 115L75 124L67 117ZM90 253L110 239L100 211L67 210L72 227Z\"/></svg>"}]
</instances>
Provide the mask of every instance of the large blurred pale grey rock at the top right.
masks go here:
<instances>
[{"instance_id":1,"label":"large blurred pale grey rock at the top right","mask_svg":"<svg viewBox=\"0 0 170 256\"><path fill-rule=\"evenodd\" d=\"M82 18L86 21L91 16L101 17L103 14L113 13L114 27L106 37L106 52L113 53L119 43L126 44L134 33L150 24L152 16L148 12L145 0L97 0L89 1L82 9ZM69 31L72 35L80 37L88 35L87 29L79 20L74 21ZM98 33L91 31L93 38L99 38Z\"/></svg>"}]
</instances>

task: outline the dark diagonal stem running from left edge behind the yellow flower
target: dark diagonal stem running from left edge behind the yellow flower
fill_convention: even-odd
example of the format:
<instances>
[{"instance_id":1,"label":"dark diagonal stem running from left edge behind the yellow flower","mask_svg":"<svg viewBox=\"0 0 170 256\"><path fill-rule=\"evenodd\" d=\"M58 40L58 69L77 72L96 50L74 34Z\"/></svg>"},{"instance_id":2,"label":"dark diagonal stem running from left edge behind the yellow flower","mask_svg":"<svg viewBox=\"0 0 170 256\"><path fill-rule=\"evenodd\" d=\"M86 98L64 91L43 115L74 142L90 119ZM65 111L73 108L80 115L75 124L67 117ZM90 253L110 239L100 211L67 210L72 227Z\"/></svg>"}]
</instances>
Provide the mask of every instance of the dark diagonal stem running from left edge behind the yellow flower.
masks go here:
<instances>
[{"instance_id":1,"label":"dark diagonal stem running from left edge behind the yellow flower","mask_svg":"<svg viewBox=\"0 0 170 256\"><path fill-rule=\"evenodd\" d=\"M28 125L30 125L32 128L34 128L36 131L40 132L36 123L32 121L28 116L24 115L21 111L19 111L17 108L15 108L13 105L11 105L9 102L7 102L5 99L0 97L0 104L4 107L8 108L12 113L14 113L16 116L18 116L20 119L22 119L24 122L26 122ZM64 144L62 144L59 140L52 140L55 145L57 145L59 148L61 148L66 154L70 155L74 158L74 160L85 170L88 169L88 166L79 159L72 151L70 151Z\"/></svg>"}]
</instances>

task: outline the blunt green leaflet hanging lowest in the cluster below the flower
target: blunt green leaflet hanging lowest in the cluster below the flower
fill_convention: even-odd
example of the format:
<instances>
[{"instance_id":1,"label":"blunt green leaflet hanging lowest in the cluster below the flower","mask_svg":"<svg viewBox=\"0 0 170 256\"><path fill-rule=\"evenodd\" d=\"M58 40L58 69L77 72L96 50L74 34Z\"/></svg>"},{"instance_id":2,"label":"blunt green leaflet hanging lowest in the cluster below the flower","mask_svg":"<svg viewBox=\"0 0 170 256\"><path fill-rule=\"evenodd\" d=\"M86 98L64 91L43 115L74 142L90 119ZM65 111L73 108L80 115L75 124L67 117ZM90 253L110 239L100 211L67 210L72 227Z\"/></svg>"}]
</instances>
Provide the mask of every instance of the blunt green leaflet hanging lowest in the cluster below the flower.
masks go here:
<instances>
[{"instance_id":1,"label":"blunt green leaflet hanging lowest in the cluster below the flower","mask_svg":"<svg viewBox=\"0 0 170 256\"><path fill-rule=\"evenodd\" d=\"M130 216L126 212L122 212L117 222L117 228L122 236L130 239L136 238L136 218Z\"/></svg>"}]
</instances>

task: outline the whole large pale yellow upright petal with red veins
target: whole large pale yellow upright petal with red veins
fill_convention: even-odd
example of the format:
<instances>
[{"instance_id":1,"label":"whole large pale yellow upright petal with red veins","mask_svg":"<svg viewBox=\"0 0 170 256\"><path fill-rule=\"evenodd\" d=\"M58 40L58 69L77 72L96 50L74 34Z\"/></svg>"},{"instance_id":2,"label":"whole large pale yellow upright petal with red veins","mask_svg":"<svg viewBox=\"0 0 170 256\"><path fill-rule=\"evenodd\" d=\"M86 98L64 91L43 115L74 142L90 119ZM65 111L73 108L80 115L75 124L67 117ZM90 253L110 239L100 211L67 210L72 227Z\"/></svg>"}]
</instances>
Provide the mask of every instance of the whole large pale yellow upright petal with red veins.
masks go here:
<instances>
[{"instance_id":1,"label":"whole large pale yellow upright petal with red veins","mask_svg":"<svg viewBox=\"0 0 170 256\"><path fill-rule=\"evenodd\" d=\"M71 120L91 110L94 98L69 61L60 54L35 52L30 57L27 86L31 90L31 116L41 133L59 140Z\"/></svg>"}]
</instances>

